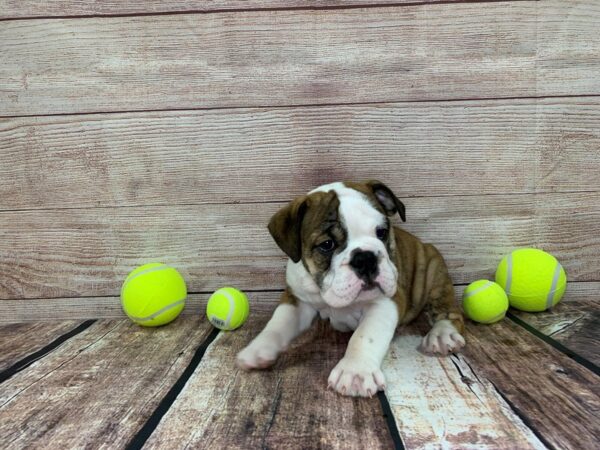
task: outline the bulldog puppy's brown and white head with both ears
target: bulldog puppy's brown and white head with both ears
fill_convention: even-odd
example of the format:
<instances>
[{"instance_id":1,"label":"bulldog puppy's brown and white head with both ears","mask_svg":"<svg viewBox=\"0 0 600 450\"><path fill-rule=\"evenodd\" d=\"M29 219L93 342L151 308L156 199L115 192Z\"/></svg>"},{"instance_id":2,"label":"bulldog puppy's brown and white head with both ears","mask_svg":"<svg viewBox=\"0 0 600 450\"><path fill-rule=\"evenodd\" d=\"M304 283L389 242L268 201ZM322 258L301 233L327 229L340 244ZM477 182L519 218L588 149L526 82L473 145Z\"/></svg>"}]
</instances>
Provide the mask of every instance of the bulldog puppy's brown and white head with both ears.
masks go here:
<instances>
[{"instance_id":1,"label":"bulldog puppy's brown and white head with both ears","mask_svg":"<svg viewBox=\"0 0 600 450\"><path fill-rule=\"evenodd\" d=\"M269 231L323 300L344 307L396 292L394 214L405 220L404 205L383 183L333 183L282 208Z\"/></svg>"}]
</instances>

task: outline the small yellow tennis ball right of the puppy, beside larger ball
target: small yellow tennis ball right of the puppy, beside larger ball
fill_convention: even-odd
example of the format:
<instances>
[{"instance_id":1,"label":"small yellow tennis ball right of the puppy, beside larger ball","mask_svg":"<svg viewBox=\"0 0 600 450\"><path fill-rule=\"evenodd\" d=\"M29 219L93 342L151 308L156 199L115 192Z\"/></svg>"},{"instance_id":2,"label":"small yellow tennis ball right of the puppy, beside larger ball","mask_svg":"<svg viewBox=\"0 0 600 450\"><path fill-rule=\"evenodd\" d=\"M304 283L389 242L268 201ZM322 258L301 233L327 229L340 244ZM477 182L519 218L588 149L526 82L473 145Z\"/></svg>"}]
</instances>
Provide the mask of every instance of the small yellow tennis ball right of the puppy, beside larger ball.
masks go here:
<instances>
[{"instance_id":1,"label":"small yellow tennis ball right of the puppy, beside larger ball","mask_svg":"<svg viewBox=\"0 0 600 450\"><path fill-rule=\"evenodd\" d=\"M508 298L502 287L493 281L477 280L463 293L463 309L475 322L494 323L504 318Z\"/></svg>"}]
</instances>

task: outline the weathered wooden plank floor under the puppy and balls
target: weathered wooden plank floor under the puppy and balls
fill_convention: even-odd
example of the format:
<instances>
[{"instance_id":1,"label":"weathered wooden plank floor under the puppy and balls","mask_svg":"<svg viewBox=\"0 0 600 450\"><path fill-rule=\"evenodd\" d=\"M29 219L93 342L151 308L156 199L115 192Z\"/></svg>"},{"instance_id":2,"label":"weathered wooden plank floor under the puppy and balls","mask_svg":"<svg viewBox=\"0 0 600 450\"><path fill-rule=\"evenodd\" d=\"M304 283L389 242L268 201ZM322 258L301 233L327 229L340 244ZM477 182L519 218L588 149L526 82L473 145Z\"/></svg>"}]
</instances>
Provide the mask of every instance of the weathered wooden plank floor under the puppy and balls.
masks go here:
<instances>
[{"instance_id":1,"label":"weathered wooden plank floor under the puppy and balls","mask_svg":"<svg viewBox=\"0 0 600 450\"><path fill-rule=\"evenodd\" d=\"M595 302L559 306L597 310ZM4 377L0 441L10 449L591 449L600 438L598 367L530 329L543 333L560 313L536 315L539 329L508 318L469 323L465 352L448 358L416 350L422 322L402 329L384 362L388 389L372 399L326 389L349 335L324 322L273 369L247 373L234 357L268 319L264 310L219 334L197 316L159 329L98 320ZM5 325L0 339L24 359L77 324ZM38 339L28 346L32 330ZM587 333L597 341L600 331Z\"/></svg>"}]
</instances>

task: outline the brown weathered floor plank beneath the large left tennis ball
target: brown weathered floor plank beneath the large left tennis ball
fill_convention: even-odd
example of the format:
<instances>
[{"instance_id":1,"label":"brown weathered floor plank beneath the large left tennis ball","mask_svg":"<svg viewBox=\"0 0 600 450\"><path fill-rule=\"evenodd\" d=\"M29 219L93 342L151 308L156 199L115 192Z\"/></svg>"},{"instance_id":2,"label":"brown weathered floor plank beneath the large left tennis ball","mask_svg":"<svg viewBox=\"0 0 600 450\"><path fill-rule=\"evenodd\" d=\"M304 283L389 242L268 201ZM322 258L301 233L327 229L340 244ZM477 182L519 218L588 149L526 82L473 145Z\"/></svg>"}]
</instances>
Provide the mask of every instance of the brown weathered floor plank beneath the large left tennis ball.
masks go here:
<instances>
[{"instance_id":1,"label":"brown weathered floor plank beneath the large left tennis ball","mask_svg":"<svg viewBox=\"0 0 600 450\"><path fill-rule=\"evenodd\" d=\"M3 448L122 448L212 327L100 321L2 384Z\"/></svg>"}]
</instances>

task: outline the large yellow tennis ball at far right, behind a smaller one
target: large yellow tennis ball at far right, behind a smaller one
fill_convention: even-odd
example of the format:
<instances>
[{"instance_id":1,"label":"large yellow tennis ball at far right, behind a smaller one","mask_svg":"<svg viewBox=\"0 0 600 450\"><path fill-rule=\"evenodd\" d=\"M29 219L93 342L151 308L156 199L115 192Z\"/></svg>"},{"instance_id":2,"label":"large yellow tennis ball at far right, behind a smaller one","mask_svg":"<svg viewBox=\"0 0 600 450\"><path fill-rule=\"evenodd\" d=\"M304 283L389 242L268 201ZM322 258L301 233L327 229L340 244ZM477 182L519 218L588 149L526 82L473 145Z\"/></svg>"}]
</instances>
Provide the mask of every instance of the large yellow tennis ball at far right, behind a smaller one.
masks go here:
<instances>
[{"instance_id":1,"label":"large yellow tennis ball at far right, behind a smaller one","mask_svg":"<svg viewBox=\"0 0 600 450\"><path fill-rule=\"evenodd\" d=\"M496 270L496 283L506 291L513 308L544 311L562 298L567 274L551 254L522 248L502 259Z\"/></svg>"}]
</instances>

